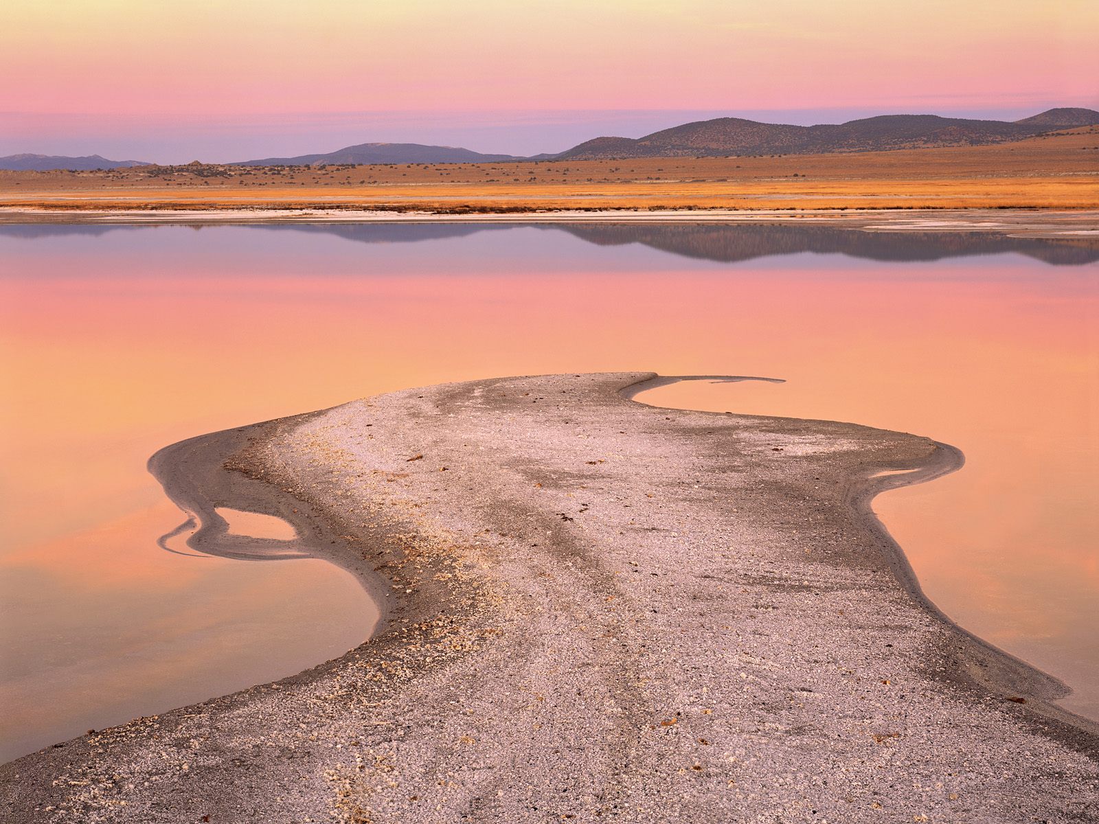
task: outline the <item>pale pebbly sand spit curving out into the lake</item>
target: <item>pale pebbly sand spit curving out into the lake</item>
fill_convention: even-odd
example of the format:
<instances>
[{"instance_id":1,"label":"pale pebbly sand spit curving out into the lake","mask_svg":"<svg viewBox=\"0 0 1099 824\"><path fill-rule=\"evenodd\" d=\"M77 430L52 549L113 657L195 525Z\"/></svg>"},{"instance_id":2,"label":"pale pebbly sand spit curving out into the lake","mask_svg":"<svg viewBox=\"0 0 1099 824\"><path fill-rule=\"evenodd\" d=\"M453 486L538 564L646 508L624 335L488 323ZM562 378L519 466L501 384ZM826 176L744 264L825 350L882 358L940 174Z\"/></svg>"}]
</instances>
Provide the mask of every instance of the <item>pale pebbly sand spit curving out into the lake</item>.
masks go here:
<instances>
[{"instance_id":1,"label":"pale pebbly sand spit curving out into the lake","mask_svg":"<svg viewBox=\"0 0 1099 824\"><path fill-rule=\"evenodd\" d=\"M193 548L276 550L217 506L285 517L378 633L4 765L4 822L1096 821L1099 732L940 615L869 510L961 454L628 399L654 377L413 389L158 453Z\"/></svg>"}]
</instances>

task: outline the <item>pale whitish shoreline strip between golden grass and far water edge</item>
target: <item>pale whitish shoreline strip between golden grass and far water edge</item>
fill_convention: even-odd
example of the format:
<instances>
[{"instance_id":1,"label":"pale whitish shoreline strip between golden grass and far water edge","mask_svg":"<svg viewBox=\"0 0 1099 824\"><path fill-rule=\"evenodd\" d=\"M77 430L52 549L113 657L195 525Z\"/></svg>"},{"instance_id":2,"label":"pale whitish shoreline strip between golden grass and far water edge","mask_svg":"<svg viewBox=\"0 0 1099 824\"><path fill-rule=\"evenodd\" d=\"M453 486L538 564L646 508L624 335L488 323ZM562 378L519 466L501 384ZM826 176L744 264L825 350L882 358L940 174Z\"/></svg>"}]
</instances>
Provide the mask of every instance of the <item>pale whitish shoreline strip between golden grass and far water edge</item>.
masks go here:
<instances>
[{"instance_id":1,"label":"pale whitish shoreline strip between golden grass and far water edge","mask_svg":"<svg viewBox=\"0 0 1099 824\"><path fill-rule=\"evenodd\" d=\"M278 223L696 223L819 224L867 232L981 232L1011 237L1099 242L1099 211L1043 208L999 209L574 209L424 211L408 209L217 208L217 209L27 209L0 207L3 224L249 225Z\"/></svg>"}]
</instances>

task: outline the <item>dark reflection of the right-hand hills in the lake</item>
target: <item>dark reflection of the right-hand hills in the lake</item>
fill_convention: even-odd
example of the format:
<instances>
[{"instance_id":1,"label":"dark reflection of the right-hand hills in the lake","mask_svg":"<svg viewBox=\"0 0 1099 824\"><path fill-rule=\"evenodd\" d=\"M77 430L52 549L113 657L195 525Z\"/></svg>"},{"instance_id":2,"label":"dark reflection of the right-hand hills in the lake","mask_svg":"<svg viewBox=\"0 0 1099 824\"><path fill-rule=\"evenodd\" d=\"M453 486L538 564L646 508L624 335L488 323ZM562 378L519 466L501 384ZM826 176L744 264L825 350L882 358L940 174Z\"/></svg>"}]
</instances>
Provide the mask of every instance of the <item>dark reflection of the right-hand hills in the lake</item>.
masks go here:
<instances>
[{"instance_id":1,"label":"dark reflection of the right-hand hills in the lake","mask_svg":"<svg viewBox=\"0 0 1099 824\"><path fill-rule=\"evenodd\" d=\"M870 260L940 260L967 255L1014 252L1053 265L1099 260L1099 243L1076 240L1008 237L989 232L863 232L837 226L785 224L567 224L577 237L600 246L641 243L685 257L721 263L804 252Z\"/></svg>"}]
</instances>

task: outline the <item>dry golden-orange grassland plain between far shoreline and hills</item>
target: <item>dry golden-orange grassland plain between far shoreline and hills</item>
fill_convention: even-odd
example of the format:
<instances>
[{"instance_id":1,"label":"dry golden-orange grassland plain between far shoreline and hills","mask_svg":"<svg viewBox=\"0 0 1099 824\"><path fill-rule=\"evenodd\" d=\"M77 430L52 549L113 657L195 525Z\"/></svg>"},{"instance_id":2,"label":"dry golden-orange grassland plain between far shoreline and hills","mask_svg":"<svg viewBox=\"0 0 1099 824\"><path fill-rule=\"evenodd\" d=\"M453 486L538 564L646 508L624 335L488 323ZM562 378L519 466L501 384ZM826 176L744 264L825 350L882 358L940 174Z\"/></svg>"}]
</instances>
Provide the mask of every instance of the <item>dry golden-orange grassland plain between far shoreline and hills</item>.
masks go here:
<instances>
[{"instance_id":1,"label":"dry golden-orange grassland plain between far shoreline and hills","mask_svg":"<svg viewBox=\"0 0 1099 824\"><path fill-rule=\"evenodd\" d=\"M992 146L492 164L0 171L0 207L384 209L1099 208L1099 127Z\"/></svg>"}]
</instances>

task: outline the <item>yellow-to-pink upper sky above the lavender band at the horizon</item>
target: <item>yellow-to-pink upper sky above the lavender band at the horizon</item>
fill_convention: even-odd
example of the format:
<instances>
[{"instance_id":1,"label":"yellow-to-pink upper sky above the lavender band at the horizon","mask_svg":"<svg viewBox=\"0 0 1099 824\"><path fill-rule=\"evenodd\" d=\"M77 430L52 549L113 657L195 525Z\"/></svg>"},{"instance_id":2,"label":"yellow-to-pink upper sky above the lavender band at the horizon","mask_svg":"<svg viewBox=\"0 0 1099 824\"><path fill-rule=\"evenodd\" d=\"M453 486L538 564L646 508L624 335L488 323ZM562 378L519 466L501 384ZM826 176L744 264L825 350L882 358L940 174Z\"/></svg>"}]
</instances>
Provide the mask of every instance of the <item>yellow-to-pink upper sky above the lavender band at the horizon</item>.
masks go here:
<instances>
[{"instance_id":1,"label":"yellow-to-pink upper sky above the lavender band at the horizon","mask_svg":"<svg viewBox=\"0 0 1099 824\"><path fill-rule=\"evenodd\" d=\"M9 112L942 110L1097 97L1092 0L5 3Z\"/></svg>"}]
</instances>

